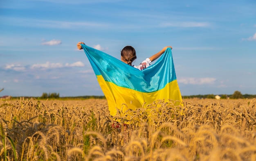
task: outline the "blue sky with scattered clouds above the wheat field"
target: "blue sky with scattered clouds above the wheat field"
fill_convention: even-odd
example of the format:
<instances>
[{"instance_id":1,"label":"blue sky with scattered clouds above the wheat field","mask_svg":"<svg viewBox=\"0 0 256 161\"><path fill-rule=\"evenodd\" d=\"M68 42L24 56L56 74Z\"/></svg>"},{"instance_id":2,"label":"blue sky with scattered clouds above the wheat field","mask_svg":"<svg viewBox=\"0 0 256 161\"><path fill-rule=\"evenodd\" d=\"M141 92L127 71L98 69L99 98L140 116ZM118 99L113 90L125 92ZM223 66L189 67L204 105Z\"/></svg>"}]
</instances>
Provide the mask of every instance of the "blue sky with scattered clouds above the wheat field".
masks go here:
<instances>
[{"instance_id":1,"label":"blue sky with scattered clouds above the wheat field","mask_svg":"<svg viewBox=\"0 0 256 161\"><path fill-rule=\"evenodd\" d=\"M255 0L1 0L2 95L103 95L77 42L139 63L172 46L182 95L256 94Z\"/></svg>"}]
</instances>

